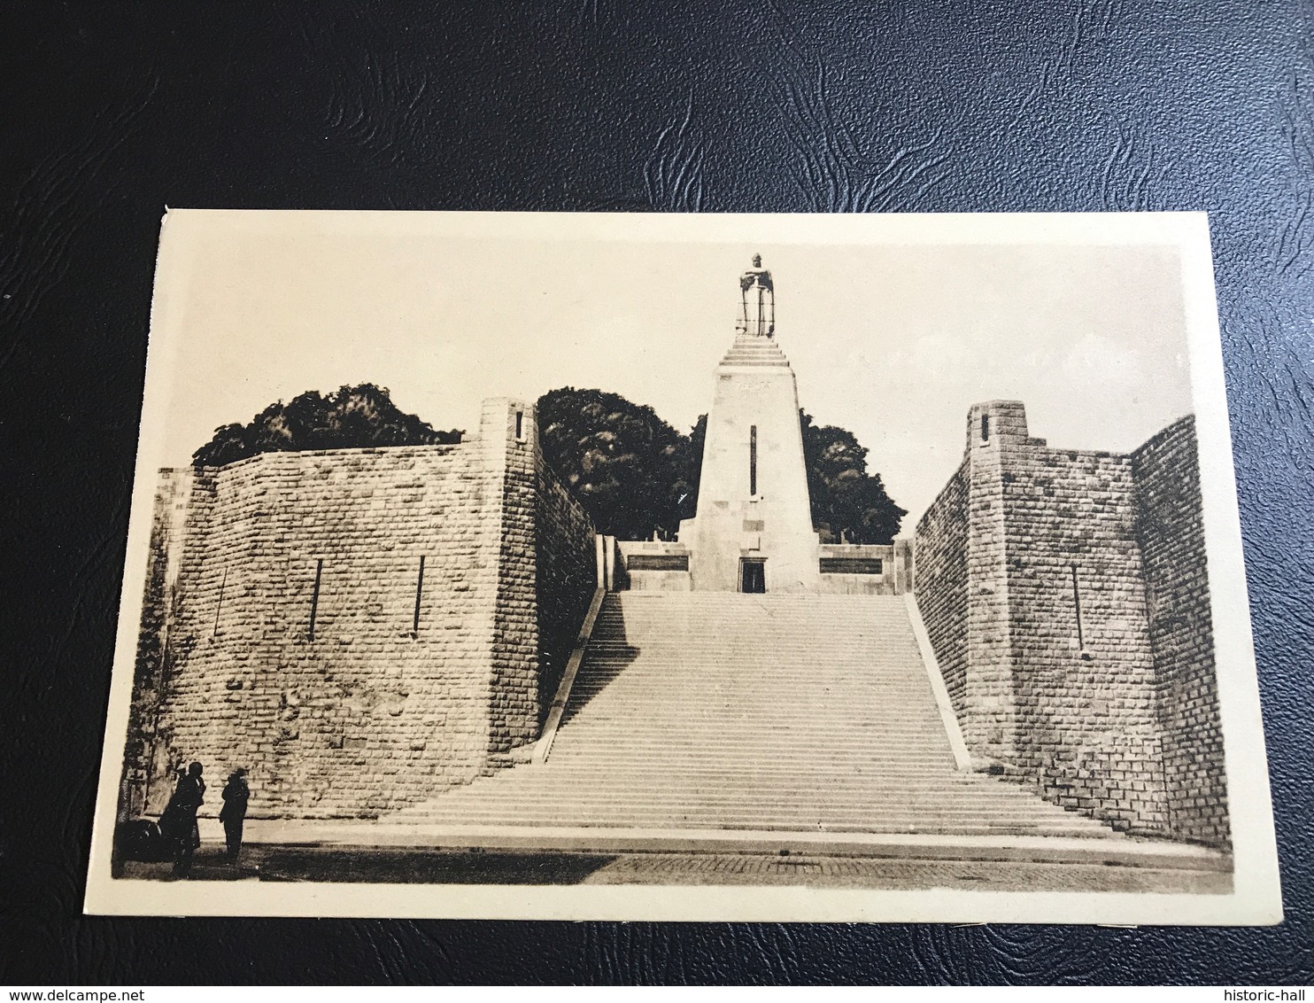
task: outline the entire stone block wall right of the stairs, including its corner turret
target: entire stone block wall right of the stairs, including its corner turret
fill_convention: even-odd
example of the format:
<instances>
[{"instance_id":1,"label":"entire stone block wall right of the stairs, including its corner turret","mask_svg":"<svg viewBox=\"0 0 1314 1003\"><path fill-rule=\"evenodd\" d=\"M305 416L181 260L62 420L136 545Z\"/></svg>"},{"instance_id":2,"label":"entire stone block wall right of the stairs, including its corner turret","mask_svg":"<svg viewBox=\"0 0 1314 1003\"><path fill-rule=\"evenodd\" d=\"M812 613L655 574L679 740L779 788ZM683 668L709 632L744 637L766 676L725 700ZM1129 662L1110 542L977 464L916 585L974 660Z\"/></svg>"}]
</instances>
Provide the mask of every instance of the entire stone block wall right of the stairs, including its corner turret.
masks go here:
<instances>
[{"instance_id":1,"label":"entire stone block wall right of the stairs, including its corner turret","mask_svg":"<svg viewBox=\"0 0 1314 1003\"><path fill-rule=\"evenodd\" d=\"M974 766L1116 828L1227 844L1193 422L1133 455L976 405L916 594Z\"/></svg>"}]
</instances>

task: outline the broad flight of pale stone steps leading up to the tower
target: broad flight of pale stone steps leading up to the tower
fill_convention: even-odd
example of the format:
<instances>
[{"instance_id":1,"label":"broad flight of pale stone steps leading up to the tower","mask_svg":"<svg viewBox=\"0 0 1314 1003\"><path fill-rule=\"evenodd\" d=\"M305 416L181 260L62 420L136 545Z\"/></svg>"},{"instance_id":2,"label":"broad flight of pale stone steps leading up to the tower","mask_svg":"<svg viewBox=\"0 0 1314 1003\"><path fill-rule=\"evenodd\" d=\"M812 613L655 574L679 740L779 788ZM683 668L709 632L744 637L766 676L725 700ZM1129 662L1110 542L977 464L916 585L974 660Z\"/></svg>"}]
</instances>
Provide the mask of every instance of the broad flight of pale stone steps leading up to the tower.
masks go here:
<instances>
[{"instance_id":1,"label":"broad flight of pale stone steps leading up to the tower","mask_svg":"<svg viewBox=\"0 0 1314 1003\"><path fill-rule=\"evenodd\" d=\"M1122 839L954 769L886 595L611 594L547 762L381 822Z\"/></svg>"}]
</instances>

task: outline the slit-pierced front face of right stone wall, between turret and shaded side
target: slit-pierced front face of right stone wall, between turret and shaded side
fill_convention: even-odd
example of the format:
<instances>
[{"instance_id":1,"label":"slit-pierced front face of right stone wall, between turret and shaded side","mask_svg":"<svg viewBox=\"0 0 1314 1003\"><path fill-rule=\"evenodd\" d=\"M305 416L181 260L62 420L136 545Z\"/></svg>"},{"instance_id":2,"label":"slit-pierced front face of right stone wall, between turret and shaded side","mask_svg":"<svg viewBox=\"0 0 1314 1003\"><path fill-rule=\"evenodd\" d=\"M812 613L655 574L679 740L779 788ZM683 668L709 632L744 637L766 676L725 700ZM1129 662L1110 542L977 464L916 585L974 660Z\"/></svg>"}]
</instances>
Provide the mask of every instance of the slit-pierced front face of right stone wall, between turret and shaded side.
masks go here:
<instances>
[{"instance_id":1,"label":"slit-pierced front face of right stone wall, between turret and shaded side","mask_svg":"<svg viewBox=\"0 0 1314 1003\"><path fill-rule=\"evenodd\" d=\"M1164 832L1131 460L1004 446L1013 770L1063 807Z\"/></svg>"}]
</instances>

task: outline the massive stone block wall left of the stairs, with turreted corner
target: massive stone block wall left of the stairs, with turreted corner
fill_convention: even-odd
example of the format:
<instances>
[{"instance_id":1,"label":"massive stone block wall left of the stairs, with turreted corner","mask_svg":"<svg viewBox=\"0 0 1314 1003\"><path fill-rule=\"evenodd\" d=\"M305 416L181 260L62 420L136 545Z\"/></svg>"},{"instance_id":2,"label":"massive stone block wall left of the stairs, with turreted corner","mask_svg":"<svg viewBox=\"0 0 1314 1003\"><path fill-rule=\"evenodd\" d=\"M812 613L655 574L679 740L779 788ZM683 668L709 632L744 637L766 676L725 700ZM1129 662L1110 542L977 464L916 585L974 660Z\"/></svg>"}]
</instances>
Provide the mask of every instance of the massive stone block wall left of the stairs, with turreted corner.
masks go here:
<instances>
[{"instance_id":1,"label":"massive stone block wall left of the stairs, with turreted corner","mask_svg":"<svg viewBox=\"0 0 1314 1003\"><path fill-rule=\"evenodd\" d=\"M544 672L595 578L593 527L547 469L532 406L503 398L459 446L202 468L173 561L171 525L152 534L134 699L158 726L134 723L129 751L150 752L125 772L137 803L150 778L151 811L193 758L209 811L247 766L252 815L280 818L373 816L506 765L537 737Z\"/></svg>"}]
</instances>

